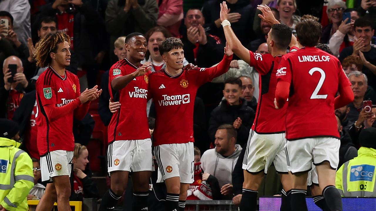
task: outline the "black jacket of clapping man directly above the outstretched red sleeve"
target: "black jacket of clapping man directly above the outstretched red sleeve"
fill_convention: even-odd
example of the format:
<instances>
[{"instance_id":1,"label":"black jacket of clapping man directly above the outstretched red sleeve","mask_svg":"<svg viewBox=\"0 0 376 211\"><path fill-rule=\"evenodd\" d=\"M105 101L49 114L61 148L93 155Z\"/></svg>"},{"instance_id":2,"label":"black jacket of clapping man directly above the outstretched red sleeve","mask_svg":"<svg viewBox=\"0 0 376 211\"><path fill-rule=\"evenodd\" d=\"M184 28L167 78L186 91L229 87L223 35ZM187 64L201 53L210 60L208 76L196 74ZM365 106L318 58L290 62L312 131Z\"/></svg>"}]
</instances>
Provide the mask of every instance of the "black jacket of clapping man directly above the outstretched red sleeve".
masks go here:
<instances>
[{"instance_id":1,"label":"black jacket of clapping man directly above the outstretched red sleeve","mask_svg":"<svg viewBox=\"0 0 376 211\"><path fill-rule=\"evenodd\" d=\"M184 56L188 62L196 64L200 68L209 68L219 63L224 55L224 44L217 36L206 33L207 43L205 45L199 45L197 50L197 60L194 59L193 49L196 48L195 44L192 44L186 35L183 35L182 42L184 44Z\"/></svg>"}]
</instances>

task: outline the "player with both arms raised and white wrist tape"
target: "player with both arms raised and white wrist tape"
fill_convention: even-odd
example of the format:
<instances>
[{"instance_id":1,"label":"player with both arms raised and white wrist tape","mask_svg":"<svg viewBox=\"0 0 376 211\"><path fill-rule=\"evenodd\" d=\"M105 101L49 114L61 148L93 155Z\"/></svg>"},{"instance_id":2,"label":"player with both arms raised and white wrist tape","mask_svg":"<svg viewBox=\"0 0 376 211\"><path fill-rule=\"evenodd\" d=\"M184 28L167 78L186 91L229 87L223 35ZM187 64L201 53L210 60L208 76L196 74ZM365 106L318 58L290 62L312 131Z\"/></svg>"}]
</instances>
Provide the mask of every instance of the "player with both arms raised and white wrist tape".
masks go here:
<instances>
[{"instance_id":1,"label":"player with both arms raised and white wrist tape","mask_svg":"<svg viewBox=\"0 0 376 211\"><path fill-rule=\"evenodd\" d=\"M295 38L291 40L293 35L290 28L284 24L280 24L274 18L270 8L259 5L258 9L263 13L263 15L260 15L262 20L272 25L267 39L270 54L261 55L253 53L241 45L227 20L228 10L226 2L221 4L220 12L224 35L231 50L245 62L249 63L250 66L254 66L260 74L259 104L255 121L250 130L247 150L243 160L244 183L239 207L241 211L256 210L259 185L264 178L264 173L267 173L268 167L272 163L274 163L277 172L280 173L284 190L288 191L291 189L284 151L286 144L286 107L277 110L273 105L273 101L277 83L275 74L278 63L282 55L286 54L289 44L291 50L298 49L296 47L297 42ZM271 119L273 121L270 121ZM260 153L261 151L262 153ZM282 196L282 211L290 210L286 196L287 194Z\"/></svg>"}]
</instances>

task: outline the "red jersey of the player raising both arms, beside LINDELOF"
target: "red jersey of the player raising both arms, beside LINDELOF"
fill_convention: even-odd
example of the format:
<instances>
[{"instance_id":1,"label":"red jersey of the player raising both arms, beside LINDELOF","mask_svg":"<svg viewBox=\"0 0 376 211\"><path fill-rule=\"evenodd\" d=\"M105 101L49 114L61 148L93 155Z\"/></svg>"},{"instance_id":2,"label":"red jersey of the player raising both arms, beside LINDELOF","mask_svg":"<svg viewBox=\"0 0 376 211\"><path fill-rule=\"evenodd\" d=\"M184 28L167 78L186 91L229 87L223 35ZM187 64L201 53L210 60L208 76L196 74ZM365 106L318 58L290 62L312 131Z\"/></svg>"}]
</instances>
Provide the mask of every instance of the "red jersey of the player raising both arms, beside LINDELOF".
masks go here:
<instances>
[{"instance_id":1,"label":"red jersey of the player raising both arms, beside LINDELOF","mask_svg":"<svg viewBox=\"0 0 376 211\"><path fill-rule=\"evenodd\" d=\"M274 107L277 78L276 72L281 55L273 57L271 54L259 54L249 51L250 66L255 67L259 72L259 99L257 104L255 121L252 130L258 134L284 133L285 126L285 105L277 110ZM271 119L273 121L271 121Z\"/></svg>"}]
</instances>

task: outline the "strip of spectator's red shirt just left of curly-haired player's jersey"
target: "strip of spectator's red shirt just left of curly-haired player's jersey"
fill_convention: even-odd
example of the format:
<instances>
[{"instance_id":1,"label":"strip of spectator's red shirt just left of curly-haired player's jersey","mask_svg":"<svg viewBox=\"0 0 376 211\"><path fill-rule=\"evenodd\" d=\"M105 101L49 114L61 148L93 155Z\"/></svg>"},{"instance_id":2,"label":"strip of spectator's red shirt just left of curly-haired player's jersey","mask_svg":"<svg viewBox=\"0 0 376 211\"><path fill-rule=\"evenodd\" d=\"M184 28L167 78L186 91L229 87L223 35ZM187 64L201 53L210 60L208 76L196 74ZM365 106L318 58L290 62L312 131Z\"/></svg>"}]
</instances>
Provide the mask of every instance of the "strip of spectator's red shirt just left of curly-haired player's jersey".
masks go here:
<instances>
[{"instance_id":1,"label":"strip of spectator's red shirt just left of curly-haired player's jersey","mask_svg":"<svg viewBox=\"0 0 376 211\"><path fill-rule=\"evenodd\" d=\"M40 155L38 152L38 145L37 145L38 127L36 126L35 114L36 114L36 101L34 104L33 111L31 112L31 115L30 115L30 124L27 125L25 136L26 136L26 149L29 152L30 157L36 158L39 160Z\"/></svg>"}]
</instances>

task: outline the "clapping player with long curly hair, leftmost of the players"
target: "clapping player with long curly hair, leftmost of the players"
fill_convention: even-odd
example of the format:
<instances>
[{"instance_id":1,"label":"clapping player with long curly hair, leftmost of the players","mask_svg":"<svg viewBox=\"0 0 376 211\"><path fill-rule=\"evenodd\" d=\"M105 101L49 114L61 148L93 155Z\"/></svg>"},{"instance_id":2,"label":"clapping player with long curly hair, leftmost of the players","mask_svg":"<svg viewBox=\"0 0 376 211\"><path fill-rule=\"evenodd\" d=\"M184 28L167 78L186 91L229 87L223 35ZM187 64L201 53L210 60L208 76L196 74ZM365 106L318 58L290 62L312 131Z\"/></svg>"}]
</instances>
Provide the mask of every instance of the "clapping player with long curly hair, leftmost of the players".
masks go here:
<instances>
[{"instance_id":1,"label":"clapping player with long curly hair, leftmost of the players","mask_svg":"<svg viewBox=\"0 0 376 211\"><path fill-rule=\"evenodd\" d=\"M65 32L45 35L35 51L39 67L48 66L36 81L38 151L41 155L42 181L47 184L37 211L51 210L58 201L59 210L69 205L71 164L74 150L73 116L82 119L89 101L98 98L97 86L80 94L76 75L65 68L70 64L70 38Z\"/></svg>"}]
</instances>

